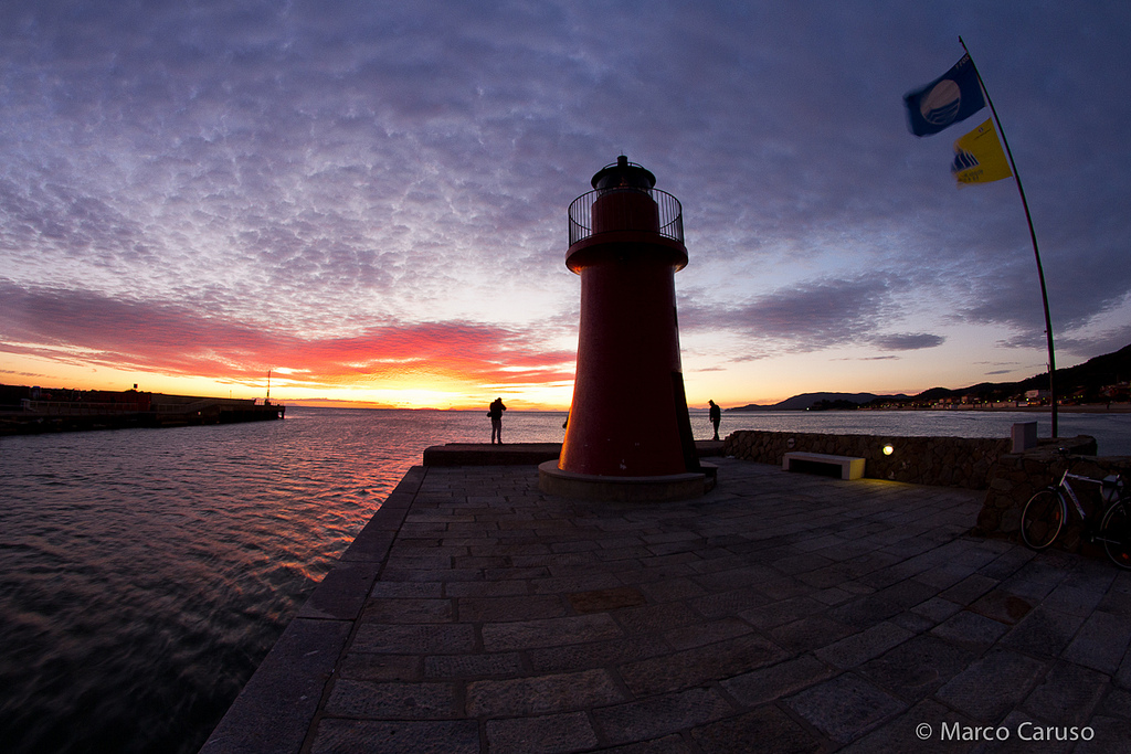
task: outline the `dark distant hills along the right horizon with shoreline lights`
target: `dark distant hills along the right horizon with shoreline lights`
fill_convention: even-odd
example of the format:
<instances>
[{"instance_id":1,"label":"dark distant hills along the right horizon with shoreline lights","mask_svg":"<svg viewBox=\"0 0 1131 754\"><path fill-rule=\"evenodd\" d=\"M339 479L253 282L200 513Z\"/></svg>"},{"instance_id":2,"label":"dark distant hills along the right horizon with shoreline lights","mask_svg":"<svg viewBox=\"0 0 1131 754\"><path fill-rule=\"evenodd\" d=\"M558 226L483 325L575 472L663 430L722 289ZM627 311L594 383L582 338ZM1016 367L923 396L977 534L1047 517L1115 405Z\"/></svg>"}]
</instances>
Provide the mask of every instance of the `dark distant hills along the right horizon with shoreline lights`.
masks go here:
<instances>
[{"instance_id":1,"label":"dark distant hills along the right horizon with shoreline lights","mask_svg":"<svg viewBox=\"0 0 1131 754\"><path fill-rule=\"evenodd\" d=\"M1131 379L1131 345L1119 350L1089 358L1082 364L1056 370L1056 396L1060 400L1103 402L1112 396L1105 390L1125 385ZM872 401L915 402L944 398L974 397L981 401L1010 400L1029 390L1047 390L1048 373L1035 374L1017 382L979 382L959 390L931 388L917 396L877 396L871 392L804 392L772 406L748 404L728 411L803 411L811 408L857 408ZM1126 398L1121 398L1126 400Z\"/></svg>"}]
</instances>

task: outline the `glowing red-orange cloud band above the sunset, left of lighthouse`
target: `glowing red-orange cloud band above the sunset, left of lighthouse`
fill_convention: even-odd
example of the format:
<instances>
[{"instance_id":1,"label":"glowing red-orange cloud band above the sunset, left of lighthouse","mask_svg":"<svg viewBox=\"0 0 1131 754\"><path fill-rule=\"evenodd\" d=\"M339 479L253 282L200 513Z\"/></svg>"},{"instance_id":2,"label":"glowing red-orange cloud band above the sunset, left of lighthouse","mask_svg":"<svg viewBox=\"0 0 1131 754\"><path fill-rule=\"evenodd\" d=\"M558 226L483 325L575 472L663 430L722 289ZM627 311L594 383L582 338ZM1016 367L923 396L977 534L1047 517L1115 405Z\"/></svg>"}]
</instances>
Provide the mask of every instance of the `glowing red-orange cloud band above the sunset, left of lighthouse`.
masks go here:
<instances>
[{"instance_id":1,"label":"glowing red-orange cloud band above the sunset, left of lighthouse","mask_svg":"<svg viewBox=\"0 0 1131 754\"><path fill-rule=\"evenodd\" d=\"M572 378L572 352L538 348L524 330L474 322L390 323L353 337L302 338L216 320L183 306L0 283L0 349L63 363L182 376L337 384L428 375L477 383Z\"/></svg>"}]
</instances>

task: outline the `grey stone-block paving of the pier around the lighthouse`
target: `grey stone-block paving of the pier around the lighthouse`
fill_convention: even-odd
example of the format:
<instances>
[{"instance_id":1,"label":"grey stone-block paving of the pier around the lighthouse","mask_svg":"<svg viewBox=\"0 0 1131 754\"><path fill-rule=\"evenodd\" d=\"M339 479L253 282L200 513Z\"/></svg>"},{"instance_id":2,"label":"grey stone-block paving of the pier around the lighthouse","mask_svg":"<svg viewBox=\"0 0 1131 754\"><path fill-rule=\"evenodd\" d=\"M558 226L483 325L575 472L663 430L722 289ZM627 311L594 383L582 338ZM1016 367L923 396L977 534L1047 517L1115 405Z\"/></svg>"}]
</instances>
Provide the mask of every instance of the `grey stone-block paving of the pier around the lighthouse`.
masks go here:
<instances>
[{"instance_id":1,"label":"grey stone-block paving of the pier around the lighthouse","mask_svg":"<svg viewBox=\"0 0 1131 754\"><path fill-rule=\"evenodd\" d=\"M202 751L1131 751L1131 572L969 536L983 493L717 463L640 504L415 467Z\"/></svg>"}]
</instances>

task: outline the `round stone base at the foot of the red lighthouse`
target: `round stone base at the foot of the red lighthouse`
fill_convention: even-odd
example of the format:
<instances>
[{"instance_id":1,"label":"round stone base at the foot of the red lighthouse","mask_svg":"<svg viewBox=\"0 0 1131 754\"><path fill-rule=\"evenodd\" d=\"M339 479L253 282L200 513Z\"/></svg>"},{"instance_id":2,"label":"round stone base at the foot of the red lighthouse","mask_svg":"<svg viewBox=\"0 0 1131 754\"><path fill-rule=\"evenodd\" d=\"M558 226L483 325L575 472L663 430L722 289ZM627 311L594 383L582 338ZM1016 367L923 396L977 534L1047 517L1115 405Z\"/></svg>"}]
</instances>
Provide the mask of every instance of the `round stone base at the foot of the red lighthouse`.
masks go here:
<instances>
[{"instance_id":1,"label":"round stone base at the foot of the red lighthouse","mask_svg":"<svg viewBox=\"0 0 1131 754\"><path fill-rule=\"evenodd\" d=\"M558 461L538 465L538 489L547 495L607 502L667 502L700 497L715 488L718 467L701 463L701 471L647 477L576 474L558 468Z\"/></svg>"}]
</instances>

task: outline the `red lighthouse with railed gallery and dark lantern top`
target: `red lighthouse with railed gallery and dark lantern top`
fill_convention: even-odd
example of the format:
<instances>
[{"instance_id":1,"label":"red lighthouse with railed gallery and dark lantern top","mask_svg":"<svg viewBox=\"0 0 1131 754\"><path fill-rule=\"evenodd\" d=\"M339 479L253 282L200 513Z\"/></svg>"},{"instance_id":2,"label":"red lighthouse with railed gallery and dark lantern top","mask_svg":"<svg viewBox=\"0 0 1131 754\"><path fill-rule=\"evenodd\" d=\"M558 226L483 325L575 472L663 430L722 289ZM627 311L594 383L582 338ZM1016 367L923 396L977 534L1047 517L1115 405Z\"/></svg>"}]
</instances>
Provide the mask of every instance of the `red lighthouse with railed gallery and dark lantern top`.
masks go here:
<instances>
[{"instance_id":1,"label":"red lighthouse with railed gallery and dark lantern top","mask_svg":"<svg viewBox=\"0 0 1131 754\"><path fill-rule=\"evenodd\" d=\"M621 156L570 205L566 266L581 277L577 376L561 458L539 467L544 492L674 500L714 482L696 452L680 364L683 216L655 185Z\"/></svg>"}]
</instances>

